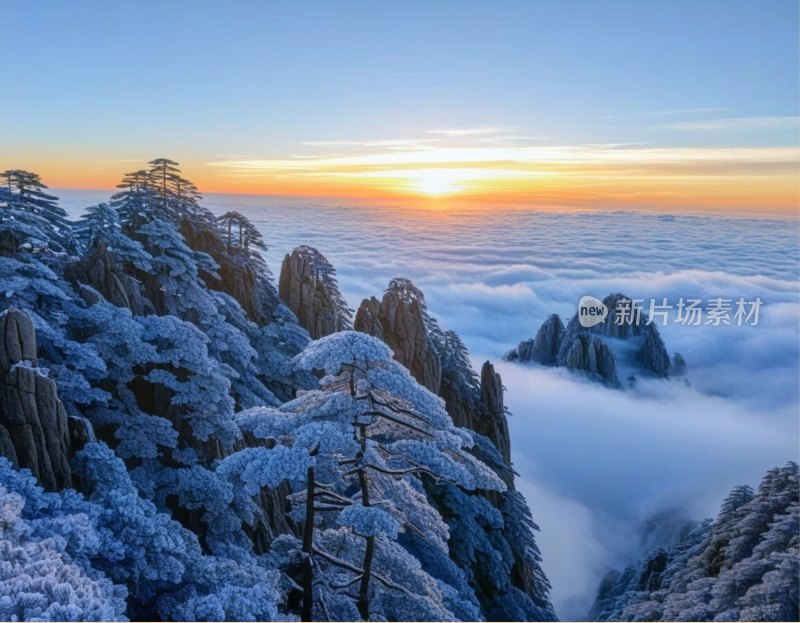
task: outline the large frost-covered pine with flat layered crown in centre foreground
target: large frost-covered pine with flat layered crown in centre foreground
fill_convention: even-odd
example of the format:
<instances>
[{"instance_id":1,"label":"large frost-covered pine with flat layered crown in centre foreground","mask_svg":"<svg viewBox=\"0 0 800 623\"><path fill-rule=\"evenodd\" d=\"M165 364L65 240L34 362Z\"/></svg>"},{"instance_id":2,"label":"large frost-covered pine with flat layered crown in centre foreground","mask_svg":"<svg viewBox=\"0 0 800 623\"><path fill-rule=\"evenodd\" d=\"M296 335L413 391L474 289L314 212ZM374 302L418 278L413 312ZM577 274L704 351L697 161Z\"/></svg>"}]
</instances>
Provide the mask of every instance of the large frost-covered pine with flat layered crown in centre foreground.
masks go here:
<instances>
[{"instance_id":1,"label":"large frost-covered pine with flat layered crown in centre foreground","mask_svg":"<svg viewBox=\"0 0 800 623\"><path fill-rule=\"evenodd\" d=\"M294 561L305 570L310 555L314 618L480 617L455 565L442 562L441 577L434 577L410 551L419 542L417 547L448 555L448 528L428 502L424 480L465 490L505 489L469 453L472 436L453 426L441 399L375 338L336 333L313 342L295 365L324 372L321 389L279 409L252 409L237 417L256 437L315 455L314 486L308 486L304 466L295 474L292 497L294 516L316 525L311 552L303 552L292 537L274 545L285 565ZM245 480L260 473L252 465L248 462Z\"/></svg>"}]
</instances>

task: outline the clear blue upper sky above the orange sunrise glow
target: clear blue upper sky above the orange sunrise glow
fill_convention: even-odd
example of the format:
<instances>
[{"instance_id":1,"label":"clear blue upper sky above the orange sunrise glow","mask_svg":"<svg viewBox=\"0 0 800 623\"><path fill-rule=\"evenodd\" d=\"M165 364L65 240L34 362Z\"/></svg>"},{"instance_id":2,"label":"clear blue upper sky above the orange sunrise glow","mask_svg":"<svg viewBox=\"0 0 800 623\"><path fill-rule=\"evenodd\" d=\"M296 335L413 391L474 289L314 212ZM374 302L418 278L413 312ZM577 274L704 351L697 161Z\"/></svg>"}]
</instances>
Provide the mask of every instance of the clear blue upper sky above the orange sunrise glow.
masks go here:
<instances>
[{"instance_id":1,"label":"clear blue upper sky above the orange sunrise glow","mask_svg":"<svg viewBox=\"0 0 800 623\"><path fill-rule=\"evenodd\" d=\"M0 165L199 164L485 126L796 147L798 19L785 0L11 3Z\"/></svg>"}]
</instances>

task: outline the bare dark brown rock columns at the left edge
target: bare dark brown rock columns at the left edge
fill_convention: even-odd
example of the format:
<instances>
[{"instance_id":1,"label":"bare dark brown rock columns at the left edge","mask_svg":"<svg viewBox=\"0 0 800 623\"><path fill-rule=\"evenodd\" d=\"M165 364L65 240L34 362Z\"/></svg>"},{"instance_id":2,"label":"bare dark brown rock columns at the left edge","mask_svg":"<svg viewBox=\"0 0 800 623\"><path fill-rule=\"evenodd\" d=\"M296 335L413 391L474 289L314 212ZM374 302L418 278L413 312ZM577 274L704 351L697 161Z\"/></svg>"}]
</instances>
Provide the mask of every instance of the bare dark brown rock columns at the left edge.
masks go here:
<instances>
[{"instance_id":1,"label":"bare dark brown rock columns at the left edge","mask_svg":"<svg viewBox=\"0 0 800 623\"><path fill-rule=\"evenodd\" d=\"M15 309L0 315L0 455L49 491L72 486L67 414L38 367L33 321Z\"/></svg>"}]
</instances>

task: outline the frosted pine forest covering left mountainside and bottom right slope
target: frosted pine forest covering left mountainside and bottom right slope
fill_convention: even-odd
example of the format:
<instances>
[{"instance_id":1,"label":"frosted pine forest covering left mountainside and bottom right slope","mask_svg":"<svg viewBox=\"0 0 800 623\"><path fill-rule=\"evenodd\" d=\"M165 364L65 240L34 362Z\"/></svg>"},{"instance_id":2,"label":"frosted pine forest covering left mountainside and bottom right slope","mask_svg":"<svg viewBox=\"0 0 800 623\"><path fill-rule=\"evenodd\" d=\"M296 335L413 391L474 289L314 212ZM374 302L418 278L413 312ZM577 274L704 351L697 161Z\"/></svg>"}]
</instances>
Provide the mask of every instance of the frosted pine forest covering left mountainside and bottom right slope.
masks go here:
<instances>
[{"instance_id":1,"label":"frosted pine forest covering left mountainside and bottom right slope","mask_svg":"<svg viewBox=\"0 0 800 623\"><path fill-rule=\"evenodd\" d=\"M262 232L200 200L161 158L74 222L0 175L0 620L556 620L499 375L406 279L350 330L300 247L312 341ZM795 464L737 489L593 615L796 620L797 500Z\"/></svg>"}]
</instances>

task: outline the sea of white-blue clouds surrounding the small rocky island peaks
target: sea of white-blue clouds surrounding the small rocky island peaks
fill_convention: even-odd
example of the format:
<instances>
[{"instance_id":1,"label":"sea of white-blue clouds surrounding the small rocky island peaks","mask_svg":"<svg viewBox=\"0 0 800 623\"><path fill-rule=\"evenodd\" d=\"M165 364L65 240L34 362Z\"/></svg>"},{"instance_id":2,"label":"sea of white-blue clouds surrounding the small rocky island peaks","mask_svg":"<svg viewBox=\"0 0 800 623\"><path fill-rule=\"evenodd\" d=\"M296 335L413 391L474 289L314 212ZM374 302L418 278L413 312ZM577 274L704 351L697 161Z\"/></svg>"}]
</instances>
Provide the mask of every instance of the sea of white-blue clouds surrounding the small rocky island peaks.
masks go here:
<instances>
[{"instance_id":1,"label":"sea of white-blue clouds surrounding the small rocky island peaks","mask_svg":"<svg viewBox=\"0 0 800 623\"><path fill-rule=\"evenodd\" d=\"M61 195L73 213L105 198ZM643 526L653 515L713 517L733 486L755 486L770 467L798 460L797 221L424 211L222 195L204 204L251 218L275 273L295 246L317 247L353 308L380 297L392 277L410 277L442 326L461 335L475 366L495 363L513 413L518 488L542 529L562 619L583 617L603 574L643 553ZM690 385L640 379L620 391L500 361L550 313L566 323L581 296L612 292L645 306L681 297L760 297L764 305L755 327L659 327L670 354L685 357Z\"/></svg>"}]
</instances>

